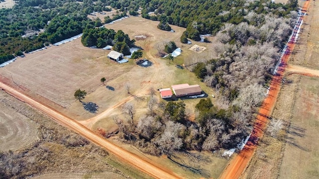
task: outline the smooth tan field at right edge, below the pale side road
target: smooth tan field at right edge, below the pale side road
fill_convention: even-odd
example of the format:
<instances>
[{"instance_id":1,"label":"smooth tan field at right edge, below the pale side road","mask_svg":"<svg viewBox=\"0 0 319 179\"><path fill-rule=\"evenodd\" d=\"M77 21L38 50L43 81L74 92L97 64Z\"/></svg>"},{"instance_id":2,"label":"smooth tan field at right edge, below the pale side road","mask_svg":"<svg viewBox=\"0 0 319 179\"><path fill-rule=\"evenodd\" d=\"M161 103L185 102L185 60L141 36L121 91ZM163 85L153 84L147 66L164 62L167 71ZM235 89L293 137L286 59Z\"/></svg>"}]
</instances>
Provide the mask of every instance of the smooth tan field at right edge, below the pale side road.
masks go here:
<instances>
[{"instance_id":1,"label":"smooth tan field at right edge, below the pale side road","mask_svg":"<svg viewBox=\"0 0 319 179\"><path fill-rule=\"evenodd\" d=\"M288 128L281 179L319 178L319 79L302 77Z\"/></svg>"}]
</instances>

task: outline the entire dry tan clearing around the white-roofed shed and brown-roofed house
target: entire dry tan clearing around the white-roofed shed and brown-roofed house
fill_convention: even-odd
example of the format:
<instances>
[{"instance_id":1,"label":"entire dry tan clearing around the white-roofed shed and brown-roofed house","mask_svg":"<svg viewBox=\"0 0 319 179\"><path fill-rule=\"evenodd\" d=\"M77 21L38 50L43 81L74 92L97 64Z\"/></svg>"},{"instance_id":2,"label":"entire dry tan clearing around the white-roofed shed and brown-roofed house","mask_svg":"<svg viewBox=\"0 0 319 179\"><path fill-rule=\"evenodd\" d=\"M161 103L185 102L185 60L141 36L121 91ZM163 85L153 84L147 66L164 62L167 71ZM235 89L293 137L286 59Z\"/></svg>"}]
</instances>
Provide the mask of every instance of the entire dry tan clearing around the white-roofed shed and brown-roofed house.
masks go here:
<instances>
[{"instance_id":1,"label":"entire dry tan clearing around the white-roofed shed and brown-roofed house","mask_svg":"<svg viewBox=\"0 0 319 179\"><path fill-rule=\"evenodd\" d=\"M1 68L0 75L65 107L58 110L77 120L94 117L129 97L124 88L125 83L132 85L133 94L145 96L145 98L150 87L168 88L178 83L199 84L206 93L213 93L212 89L199 82L193 73L178 69L174 65L174 63L182 63L183 58L194 53L188 50L192 45L181 46L179 42L179 37L185 29L172 26L175 32L166 32L159 30L157 24L156 21L142 17L130 17L106 25L107 28L122 29L131 38L141 34L148 37L136 42L137 46L144 49L144 57L153 63L148 68L136 65L134 60L126 64L113 62L106 58L109 50L84 47L80 39L77 39L18 58L14 63ZM172 64L167 63L166 59L158 58L154 48L155 44L170 40L174 40L183 51ZM101 84L102 77L107 79L106 85L113 90L106 89ZM88 92L83 101L94 102L98 106L96 113L84 110L83 104L74 99L73 94L76 89L84 89ZM159 94L158 97L160 97Z\"/></svg>"}]
</instances>

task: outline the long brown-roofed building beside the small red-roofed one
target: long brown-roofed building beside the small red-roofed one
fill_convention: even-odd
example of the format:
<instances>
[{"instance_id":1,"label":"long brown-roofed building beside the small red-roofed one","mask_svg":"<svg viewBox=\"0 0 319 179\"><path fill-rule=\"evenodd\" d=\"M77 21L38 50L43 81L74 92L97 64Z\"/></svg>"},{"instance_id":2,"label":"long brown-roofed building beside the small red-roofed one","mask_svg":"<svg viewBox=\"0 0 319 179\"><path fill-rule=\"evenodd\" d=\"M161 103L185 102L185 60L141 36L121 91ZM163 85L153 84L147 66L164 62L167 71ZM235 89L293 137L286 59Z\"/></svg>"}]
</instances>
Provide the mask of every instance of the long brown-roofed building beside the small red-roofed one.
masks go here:
<instances>
[{"instance_id":1,"label":"long brown-roofed building beside the small red-roofed one","mask_svg":"<svg viewBox=\"0 0 319 179\"><path fill-rule=\"evenodd\" d=\"M199 85L180 84L172 85L171 88L173 89L176 97L201 94L201 88Z\"/></svg>"}]
</instances>

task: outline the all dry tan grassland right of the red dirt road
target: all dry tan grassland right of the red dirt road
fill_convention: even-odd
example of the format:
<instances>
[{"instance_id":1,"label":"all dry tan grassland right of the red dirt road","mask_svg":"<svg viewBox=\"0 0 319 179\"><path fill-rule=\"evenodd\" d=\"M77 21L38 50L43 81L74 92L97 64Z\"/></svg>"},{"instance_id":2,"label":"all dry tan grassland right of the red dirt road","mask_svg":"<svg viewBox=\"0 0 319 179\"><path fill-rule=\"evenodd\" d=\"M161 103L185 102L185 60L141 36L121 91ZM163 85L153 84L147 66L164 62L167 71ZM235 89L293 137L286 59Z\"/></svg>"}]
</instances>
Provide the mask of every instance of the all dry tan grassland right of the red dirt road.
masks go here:
<instances>
[{"instance_id":1,"label":"all dry tan grassland right of the red dirt road","mask_svg":"<svg viewBox=\"0 0 319 179\"><path fill-rule=\"evenodd\" d=\"M304 3L304 1L299 1ZM244 179L318 179L319 78L319 8L311 1L302 33L288 62L286 73L271 117L285 121L277 138L266 133L246 172ZM294 74L298 70L297 74ZM301 70L304 70L303 73Z\"/></svg>"}]
</instances>

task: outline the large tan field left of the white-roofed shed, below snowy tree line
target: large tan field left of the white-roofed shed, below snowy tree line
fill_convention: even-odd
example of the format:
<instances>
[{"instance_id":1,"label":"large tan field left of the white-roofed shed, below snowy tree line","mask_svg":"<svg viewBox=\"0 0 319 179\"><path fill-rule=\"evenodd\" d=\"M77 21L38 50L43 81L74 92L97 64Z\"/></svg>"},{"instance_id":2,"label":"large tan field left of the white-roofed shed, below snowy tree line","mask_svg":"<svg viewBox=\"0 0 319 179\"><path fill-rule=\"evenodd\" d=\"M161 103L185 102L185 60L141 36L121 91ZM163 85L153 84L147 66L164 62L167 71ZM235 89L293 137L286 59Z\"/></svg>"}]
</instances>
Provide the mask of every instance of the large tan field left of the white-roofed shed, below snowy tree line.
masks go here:
<instances>
[{"instance_id":1,"label":"large tan field left of the white-roofed shed, below snowy tree line","mask_svg":"<svg viewBox=\"0 0 319 179\"><path fill-rule=\"evenodd\" d=\"M129 70L128 65L106 58L109 50L90 49L77 39L60 46L27 54L1 68L0 74L64 107L75 101L74 91L87 92ZM108 73L112 72L112 73Z\"/></svg>"}]
</instances>

